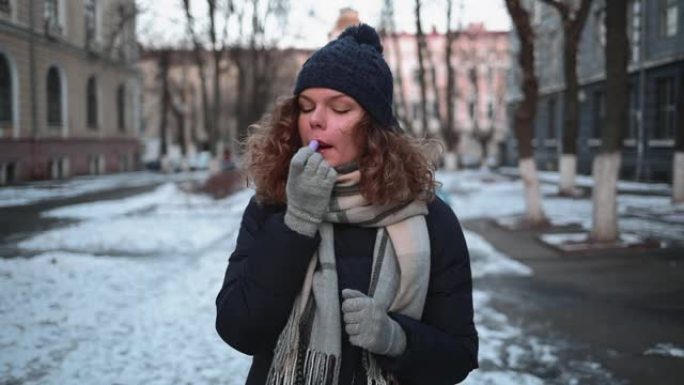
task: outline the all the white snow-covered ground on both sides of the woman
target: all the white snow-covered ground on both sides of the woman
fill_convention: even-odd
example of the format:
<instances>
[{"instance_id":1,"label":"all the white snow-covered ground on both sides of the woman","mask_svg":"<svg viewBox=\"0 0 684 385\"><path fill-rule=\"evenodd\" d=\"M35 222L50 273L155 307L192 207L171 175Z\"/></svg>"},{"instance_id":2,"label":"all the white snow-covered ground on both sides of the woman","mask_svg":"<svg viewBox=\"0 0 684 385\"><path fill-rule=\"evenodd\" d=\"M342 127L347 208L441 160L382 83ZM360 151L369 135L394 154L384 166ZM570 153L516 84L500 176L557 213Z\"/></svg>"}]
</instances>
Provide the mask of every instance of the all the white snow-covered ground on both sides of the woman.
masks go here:
<instances>
[{"instance_id":1,"label":"all the white snow-covered ground on both sides of the woman","mask_svg":"<svg viewBox=\"0 0 684 385\"><path fill-rule=\"evenodd\" d=\"M461 219L522 212L519 183L470 172L439 179ZM34 257L0 259L2 383L244 384L250 359L216 335L214 298L251 195L212 200L167 183L44 212L77 222L19 244ZM621 205L664 204L632 198ZM556 219L583 220L589 209L581 200L556 203L547 206ZM465 235L476 283L533 274L477 234ZM549 383L541 374L558 367L564 372L553 383L581 383L589 372L593 382L611 383L597 363L564 363L563 343L511 322L491 305L494 295L474 292L482 369L466 384Z\"/></svg>"}]
</instances>

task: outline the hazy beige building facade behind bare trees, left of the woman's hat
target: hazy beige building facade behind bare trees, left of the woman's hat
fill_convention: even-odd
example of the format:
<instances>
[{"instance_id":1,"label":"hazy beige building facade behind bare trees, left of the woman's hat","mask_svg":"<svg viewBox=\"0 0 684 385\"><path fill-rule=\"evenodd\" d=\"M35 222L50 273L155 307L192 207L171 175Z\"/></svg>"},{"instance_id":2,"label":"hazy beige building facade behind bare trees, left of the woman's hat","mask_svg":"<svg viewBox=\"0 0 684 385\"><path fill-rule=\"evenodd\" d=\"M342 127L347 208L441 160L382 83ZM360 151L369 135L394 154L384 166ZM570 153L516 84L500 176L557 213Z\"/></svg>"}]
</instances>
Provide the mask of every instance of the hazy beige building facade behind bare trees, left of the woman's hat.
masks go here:
<instances>
[{"instance_id":1,"label":"hazy beige building facade behind bare trees, left of the woman's hat","mask_svg":"<svg viewBox=\"0 0 684 385\"><path fill-rule=\"evenodd\" d=\"M244 123L239 121L245 100L254 99L253 83L265 90L266 95L258 98L258 111L269 112L280 97L292 94L297 71L311 55L311 50L303 49L269 49L260 54L268 54L272 70L268 81L253 80L255 67L253 52L248 49L232 47L230 53L224 52L221 61L219 87L221 90L220 108L217 124L217 140L221 143L224 154L239 156L242 152L240 136L246 132L249 124L255 123L259 116ZM169 49L167 89L169 92L164 108L163 76L161 58L164 50L144 49L139 62L143 79L143 113L140 140L145 147L143 161L154 163L161 157L161 143L166 143L166 159L169 167L186 167L187 162L197 153L208 151L212 143L205 128L203 112L201 75L197 69L194 53L184 49ZM210 52L203 52L204 62L209 63ZM242 71L237 62L240 62ZM214 105L213 66L204 68L207 79L208 104ZM240 77L248 80L241 86ZM244 83L242 83L244 84ZM163 116L166 111L166 117ZM259 114L261 115L261 114ZM162 126L164 129L162 130ZM162 140L162 136L164 136Z\"/></svg>"}]
</instances>

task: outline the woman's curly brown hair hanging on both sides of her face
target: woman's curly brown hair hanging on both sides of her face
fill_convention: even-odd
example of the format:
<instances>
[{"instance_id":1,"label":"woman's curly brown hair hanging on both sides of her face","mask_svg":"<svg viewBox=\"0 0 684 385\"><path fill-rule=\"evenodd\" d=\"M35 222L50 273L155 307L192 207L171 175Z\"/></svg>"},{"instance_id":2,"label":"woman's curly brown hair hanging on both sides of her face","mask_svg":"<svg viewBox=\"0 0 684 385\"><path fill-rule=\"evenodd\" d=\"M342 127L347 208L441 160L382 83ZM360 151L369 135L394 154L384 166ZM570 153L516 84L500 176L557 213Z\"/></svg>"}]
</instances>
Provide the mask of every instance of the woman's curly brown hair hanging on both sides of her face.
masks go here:
<instances>
[{"instance_id":1,"label":"woman's curly brown hair hanging on both sides of her face","mask_svg":"<svg viewBox=\"0 0 684 385\"><path fill-rule=\"evenodd\" d=\"M245 145L248 178L259 202L284 204L290 158L302 146L297 97L280 99L270 114L249 127ZM441 144L379 127L365 114L359 122L361 194L371 204L426 202L434 198Z\"/></svg>"}]
</instances>

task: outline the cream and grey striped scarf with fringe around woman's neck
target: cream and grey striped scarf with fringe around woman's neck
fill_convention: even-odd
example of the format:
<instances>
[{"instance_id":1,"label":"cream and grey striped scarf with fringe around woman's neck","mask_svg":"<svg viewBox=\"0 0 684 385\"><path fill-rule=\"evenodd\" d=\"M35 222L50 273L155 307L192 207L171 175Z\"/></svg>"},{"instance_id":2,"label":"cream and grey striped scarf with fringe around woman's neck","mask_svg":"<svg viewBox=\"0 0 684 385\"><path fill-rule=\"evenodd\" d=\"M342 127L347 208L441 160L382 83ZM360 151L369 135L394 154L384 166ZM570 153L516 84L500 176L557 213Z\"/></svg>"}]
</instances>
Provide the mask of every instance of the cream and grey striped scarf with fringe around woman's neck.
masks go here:
<instances>
[{"instance_id":1,"label":"cream and grey striped scarf with fringe around woman's neck","mask_svg":"<svg viewBox=\"0 0 684 385\"><path fill-rule=\"evenodd\" d=\"M375 206L361 196L358 170L339 172L319 228L302 290L274 350L268 385L337 385L341 366L340 317L334 223L377 228L368 296L388 311L420 319L430 273L430 241L421 201ZM389 242L388 242L389 241ZM363 352L367 383L398 384Z\"/></svg>"}]
</instances>

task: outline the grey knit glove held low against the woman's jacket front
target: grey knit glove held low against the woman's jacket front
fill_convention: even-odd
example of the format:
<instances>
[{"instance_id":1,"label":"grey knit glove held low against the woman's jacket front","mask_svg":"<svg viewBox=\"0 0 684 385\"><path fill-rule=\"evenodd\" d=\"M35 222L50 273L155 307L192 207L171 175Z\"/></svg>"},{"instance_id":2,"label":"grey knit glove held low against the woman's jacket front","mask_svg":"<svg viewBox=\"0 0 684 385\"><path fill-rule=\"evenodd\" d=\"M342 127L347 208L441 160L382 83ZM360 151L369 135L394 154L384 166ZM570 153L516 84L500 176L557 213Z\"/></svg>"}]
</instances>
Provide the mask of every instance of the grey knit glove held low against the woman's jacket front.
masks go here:
<instances>
[{"instance_id":1,"label":"grey knit glove held low against the woman's jacket front","mask_svg":"<svg viewBox=\"0 0 684 385\"><path fill-rule=\"evenodd\" d=\"M373 298L352 289L342 290L344 330L349 342L371 353L396 357L406 350L406 333Z\"/></svg>"}]
</instances>

